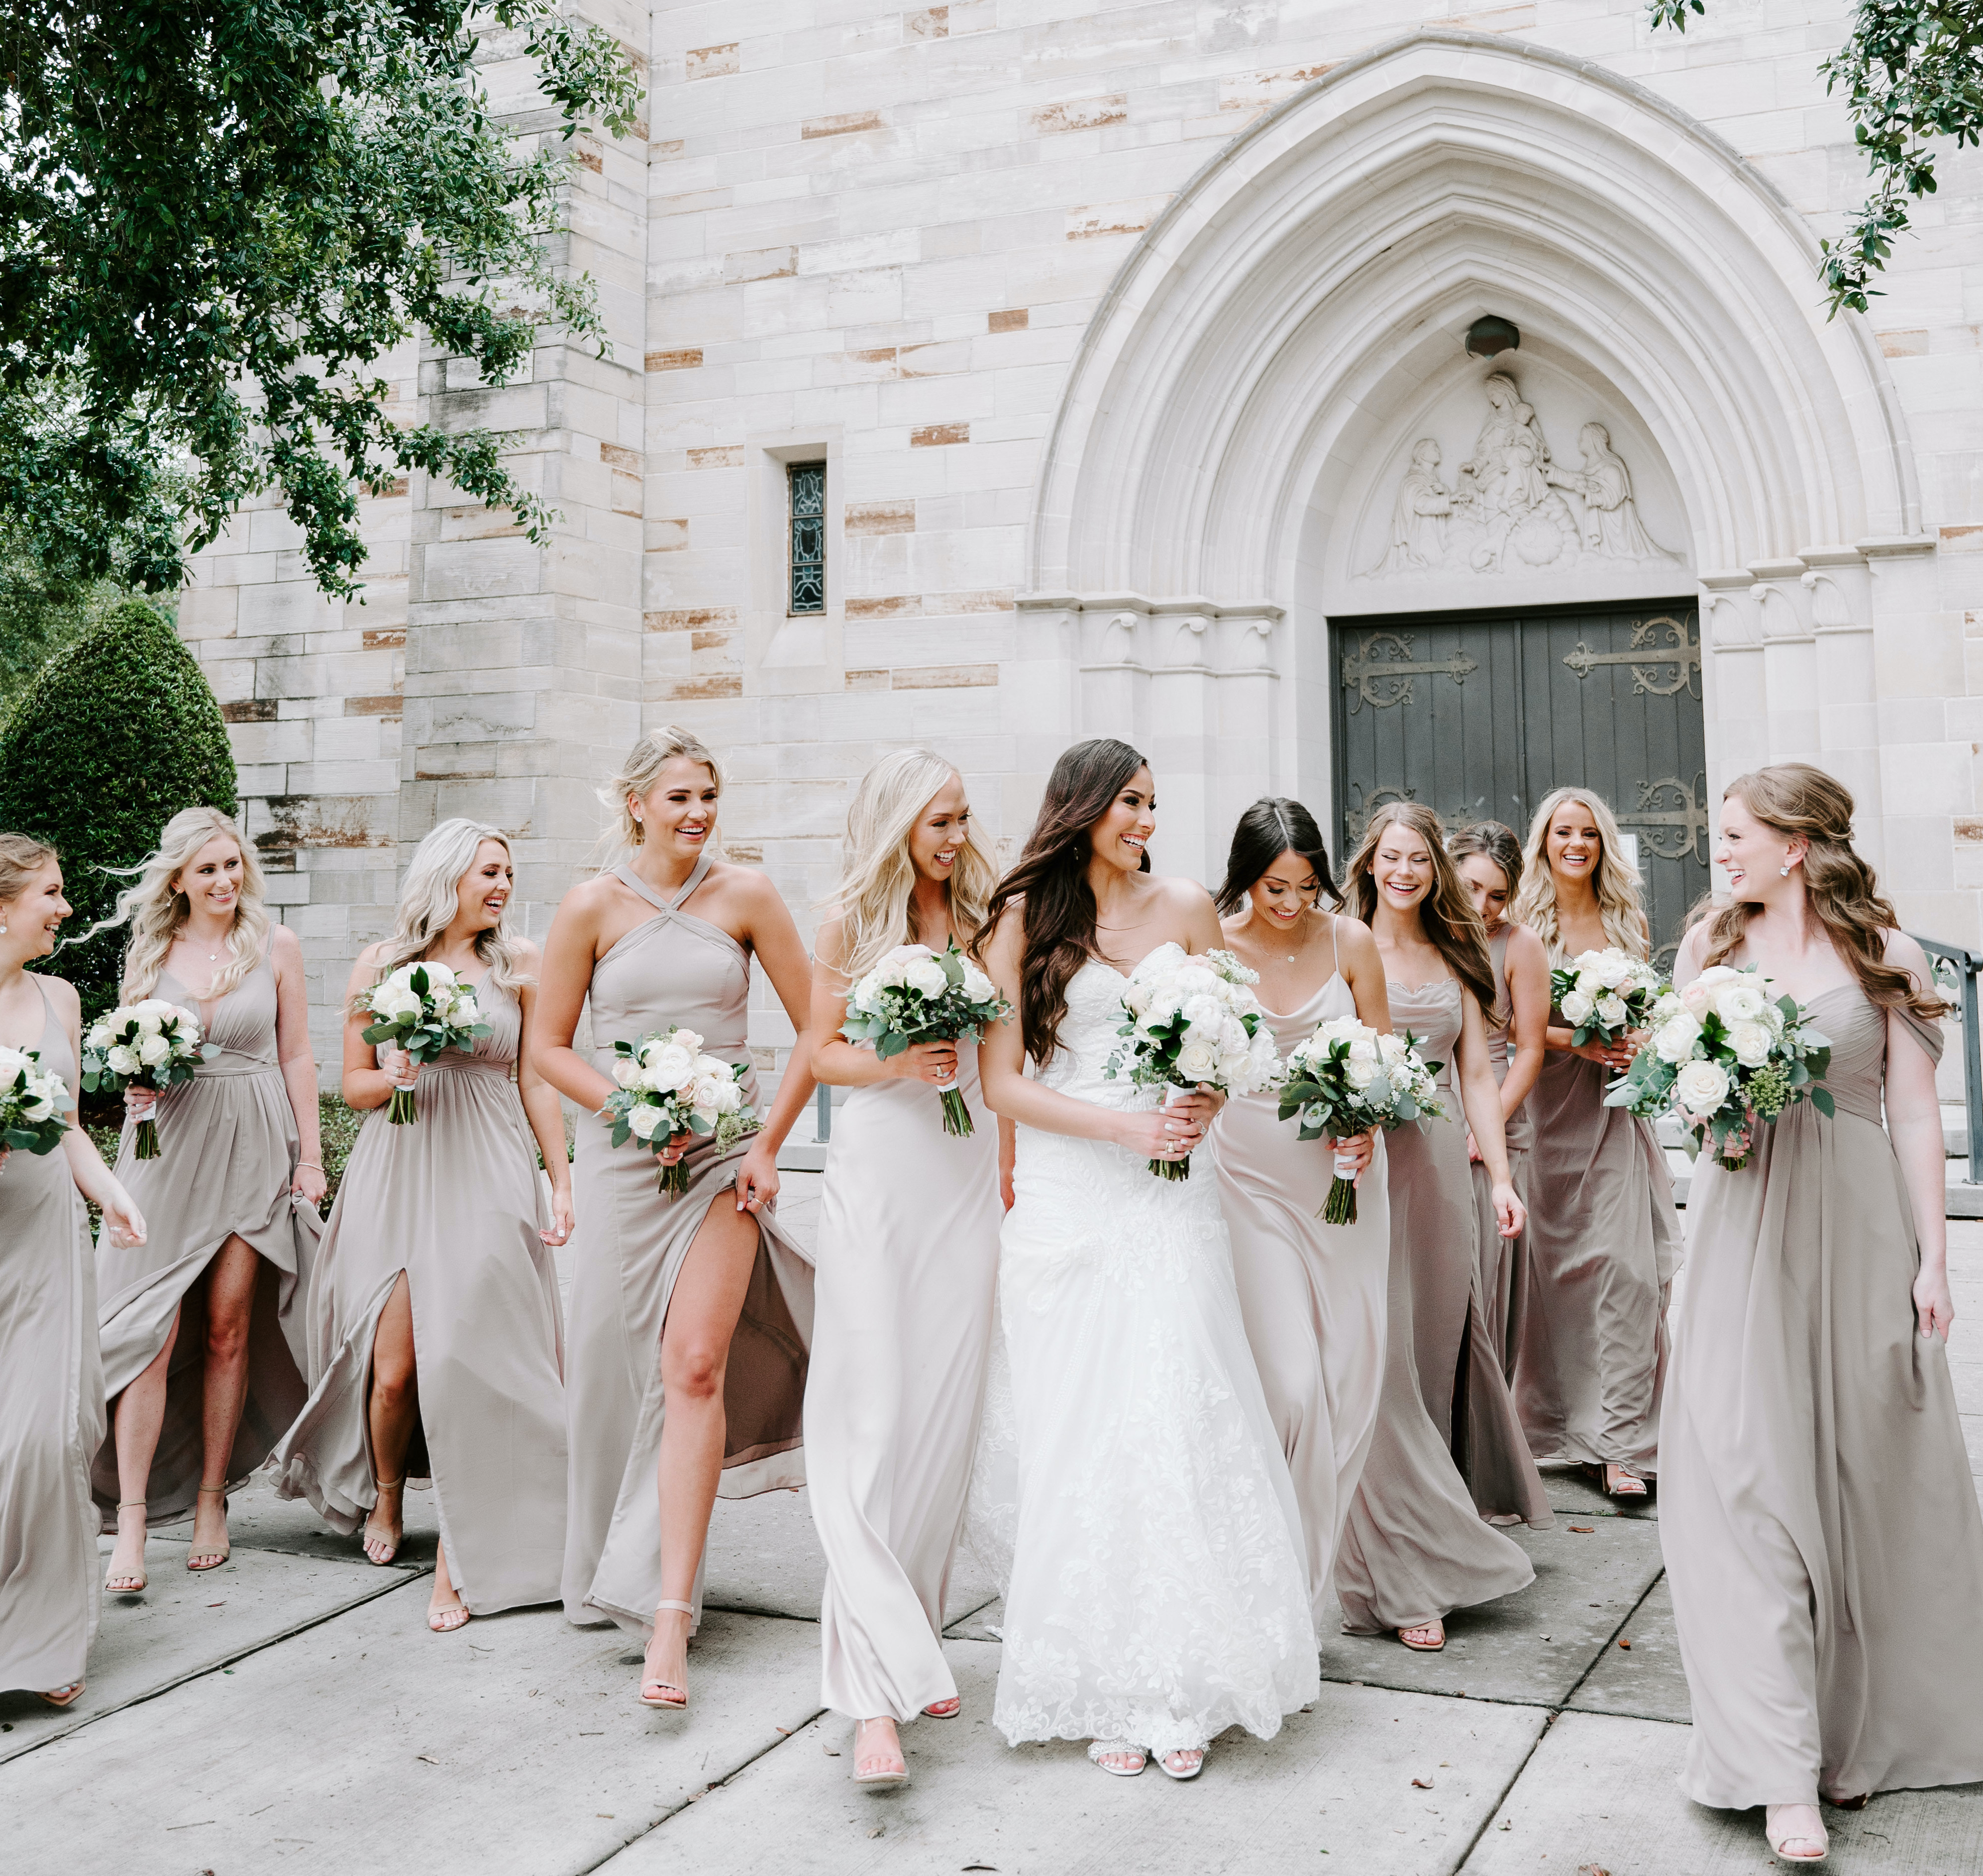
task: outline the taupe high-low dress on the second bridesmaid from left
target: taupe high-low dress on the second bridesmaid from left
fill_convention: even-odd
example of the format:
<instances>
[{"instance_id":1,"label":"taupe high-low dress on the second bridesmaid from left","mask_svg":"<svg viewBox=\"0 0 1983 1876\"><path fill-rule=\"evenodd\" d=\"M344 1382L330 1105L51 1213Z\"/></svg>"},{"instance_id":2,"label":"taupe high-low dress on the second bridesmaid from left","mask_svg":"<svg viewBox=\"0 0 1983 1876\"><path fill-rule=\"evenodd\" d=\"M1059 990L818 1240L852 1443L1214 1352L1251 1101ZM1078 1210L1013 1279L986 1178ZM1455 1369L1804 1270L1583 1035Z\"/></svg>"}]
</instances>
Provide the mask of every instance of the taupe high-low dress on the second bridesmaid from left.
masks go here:
<instances>
[{"instance_id":1,"label":"taupe high-low dress on the second bridesmaid from left","mask_svg":"<svg viewBox=\"0 0 1983 1876\"><path fill-rule=\"evenodd\" d=\"M159 1097L159 1158L133 1158L135 1128L125 1122L117 1178L145 1214L151 1237L119 1249L97 1245L103 1293L103 1386L111 1402L165 1347L173 1311L178 1339L167 1370L165 1424L151 1462L147 1513L169 1525L192 1509L200 1483L200 1414L206 1388L206 1291L196 1283L228 1237L242 1237L262 1259L248 1329L248 1398L242 1406L228 1489L276 1450L303 1410L303 1301L323 1233L317 1208L290 1192L301 1146L290 1089L276 1057L276 966L270 950L218 1003L202 1005L171 972L159 974L155 997L190 1009L216 1055L192 1081ZM117 1444L105 1438L95 1464L103 1529L117 1529Z\"/></svg>"}]
</instances>

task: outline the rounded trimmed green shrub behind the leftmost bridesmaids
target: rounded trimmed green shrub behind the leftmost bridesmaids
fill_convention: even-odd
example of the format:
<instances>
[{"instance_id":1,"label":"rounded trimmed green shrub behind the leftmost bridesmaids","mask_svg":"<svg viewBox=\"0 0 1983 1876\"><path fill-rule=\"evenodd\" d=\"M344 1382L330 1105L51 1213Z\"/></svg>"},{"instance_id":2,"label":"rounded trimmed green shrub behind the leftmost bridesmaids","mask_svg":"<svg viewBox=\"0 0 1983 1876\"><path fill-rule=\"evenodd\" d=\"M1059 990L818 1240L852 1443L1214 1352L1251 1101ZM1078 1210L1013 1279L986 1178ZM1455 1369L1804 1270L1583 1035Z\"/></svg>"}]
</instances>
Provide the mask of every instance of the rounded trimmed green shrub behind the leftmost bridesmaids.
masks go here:
<instances>
[{"instance_id":1,"label":"rounded trimmed green shrub behind the leftmost bridesmaids","mask_svg":"<svg viewBox=\"0 0 1983 1876\"><path fill-rule=\"evenodd\" d=\"M58 650L14 698L0 726L0 829L61 853L75 918L89 930L182 807L236 813L234 754L198 660L149 605L127 601ZM63 944L42 970L67 978L83 1021L117 1001L123 928Z\"/></svg>"}]
</instances>

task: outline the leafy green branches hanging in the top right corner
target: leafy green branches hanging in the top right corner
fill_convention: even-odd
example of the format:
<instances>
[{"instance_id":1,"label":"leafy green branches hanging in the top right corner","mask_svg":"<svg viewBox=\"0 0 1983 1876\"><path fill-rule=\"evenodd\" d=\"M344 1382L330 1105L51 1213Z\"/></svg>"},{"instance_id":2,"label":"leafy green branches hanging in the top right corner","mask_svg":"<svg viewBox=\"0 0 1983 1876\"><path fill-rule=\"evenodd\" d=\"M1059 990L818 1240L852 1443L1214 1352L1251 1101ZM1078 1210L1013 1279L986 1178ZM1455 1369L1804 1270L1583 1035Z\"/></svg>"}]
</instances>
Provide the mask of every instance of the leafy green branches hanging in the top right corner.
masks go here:
<instances>
[{"instance_id":1,"label":"leafy green branches hanging in the top right corner","mask_svg":"<svg viewBox=\"0 0 1983 1876\"><path fill-rule=\"evenodd\" d=\"M1650 0L1652 24L1688 30L1705 0ZM1983 139L1983 0L1860 0L1852 36L1818 71L1844 89L1872 194L1838 240L1820 242L1830 309L1864 313L1870 286L1908 228L1908 202L1935 192L1931 139Z\"/></svg>"}]
</instances>

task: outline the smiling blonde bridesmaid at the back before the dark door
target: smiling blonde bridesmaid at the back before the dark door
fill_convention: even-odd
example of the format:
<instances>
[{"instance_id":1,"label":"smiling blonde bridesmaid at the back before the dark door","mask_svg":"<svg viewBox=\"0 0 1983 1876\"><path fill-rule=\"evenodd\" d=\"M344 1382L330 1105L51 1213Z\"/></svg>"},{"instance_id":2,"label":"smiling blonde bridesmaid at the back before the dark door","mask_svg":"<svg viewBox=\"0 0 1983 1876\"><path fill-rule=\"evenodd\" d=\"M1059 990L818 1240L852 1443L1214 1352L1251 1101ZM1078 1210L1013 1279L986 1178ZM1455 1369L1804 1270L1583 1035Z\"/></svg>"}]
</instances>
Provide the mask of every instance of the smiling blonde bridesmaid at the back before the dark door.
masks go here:
<instances>
[{"instance_id":1,"label":"smiling blonde bridesmaid at the back before the dark door","mask_svg":"<svg viewBox=\"0 0 1983 1876\"><path fill-rule=\"evenodd\" d=\"M1559 787L1529 823L1515 920L1563 966L1616 946L1646 956L1638 879L1610 809ZM1604 1491L1644 1499L1660 1460L1666 1297L1680 1261L1674 1182L1652 1122L1604 1105L1636 1037L1571 1045L1551 1011L1529 1095L1529 1303L1515 1400L1543 1466L1586 1466Z\"/></svg>"}]
</instances>

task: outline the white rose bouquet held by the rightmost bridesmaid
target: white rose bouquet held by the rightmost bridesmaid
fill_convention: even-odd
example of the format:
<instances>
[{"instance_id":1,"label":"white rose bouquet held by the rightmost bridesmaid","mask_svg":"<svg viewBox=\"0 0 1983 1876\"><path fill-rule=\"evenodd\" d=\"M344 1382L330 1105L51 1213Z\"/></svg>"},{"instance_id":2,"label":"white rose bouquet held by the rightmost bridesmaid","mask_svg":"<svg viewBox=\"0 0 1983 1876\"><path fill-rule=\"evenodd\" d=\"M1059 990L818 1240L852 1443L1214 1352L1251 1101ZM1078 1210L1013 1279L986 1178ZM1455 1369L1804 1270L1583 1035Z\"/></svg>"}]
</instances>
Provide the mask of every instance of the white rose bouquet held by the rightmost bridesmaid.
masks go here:
<instances>
[{"instance_id":1,"label":"white rose bouquet held by the rightmost bridesmaid","mask_svg":"<svg viewBox=\"0 0 1983 1876\"><path fill-rule=\"evenodd\" d=\"M1828 1089L1830 1037L1805 1021L1795 997L1771 997L1755 966L1715 964L1652 1007L1652 1043L1612 1083L1606 1107L1648 1120L1674 1113L1690 1132L1688 1152L1713 1142L1731 1172L1749 1164L1759 1120L1810 1101L1834 1113Z\"/></svg>"}]
</instances>

